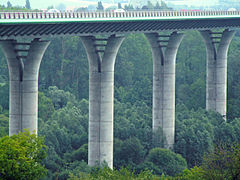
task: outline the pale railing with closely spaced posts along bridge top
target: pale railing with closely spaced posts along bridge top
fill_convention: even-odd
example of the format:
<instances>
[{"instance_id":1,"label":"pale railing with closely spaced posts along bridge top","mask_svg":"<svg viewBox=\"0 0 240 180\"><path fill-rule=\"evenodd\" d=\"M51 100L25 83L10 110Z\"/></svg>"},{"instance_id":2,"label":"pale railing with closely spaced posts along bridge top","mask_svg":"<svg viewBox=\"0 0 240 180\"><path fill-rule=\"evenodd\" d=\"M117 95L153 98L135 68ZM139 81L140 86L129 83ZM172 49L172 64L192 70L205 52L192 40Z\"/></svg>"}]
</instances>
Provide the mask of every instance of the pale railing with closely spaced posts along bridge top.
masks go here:
<instances>
[{"instance_id":1,"label":"pale railing with closely spaced posts along bridge top","mask_svg":"<svg viewBox=\"0 0 240 180\"><path fill-rule=\"evenodd\" d=\"M151 18L238 15L240 15L240 11L0 12L0 19Z\"/></svg>"}]
</instances>

